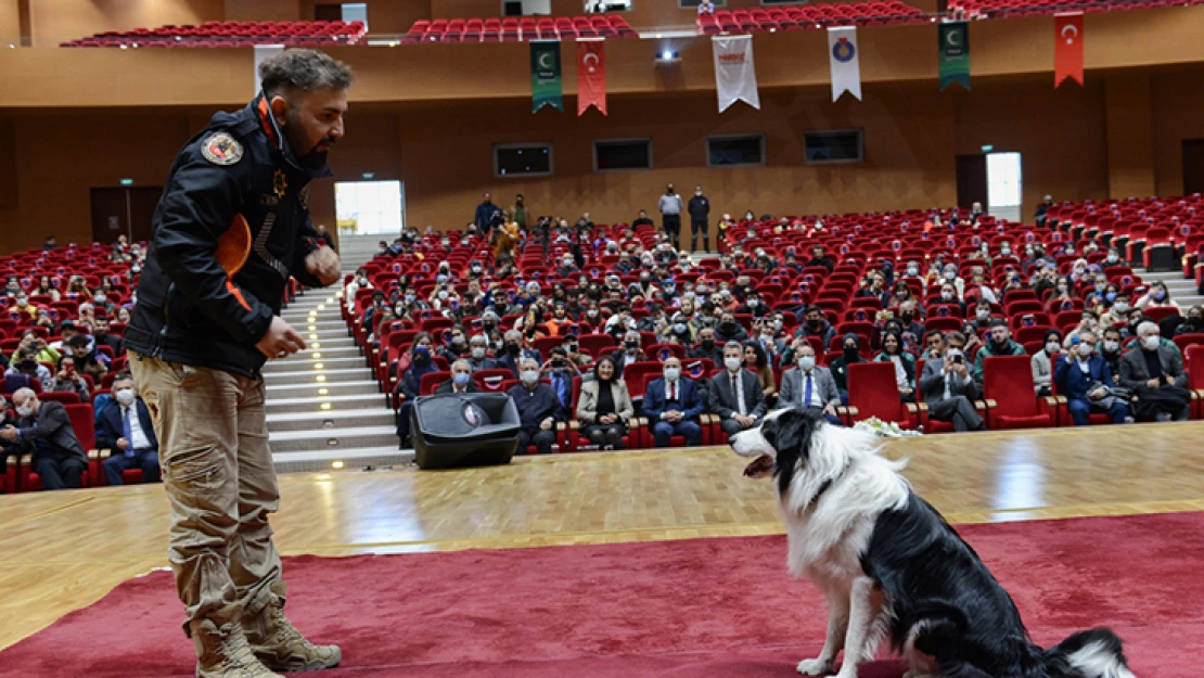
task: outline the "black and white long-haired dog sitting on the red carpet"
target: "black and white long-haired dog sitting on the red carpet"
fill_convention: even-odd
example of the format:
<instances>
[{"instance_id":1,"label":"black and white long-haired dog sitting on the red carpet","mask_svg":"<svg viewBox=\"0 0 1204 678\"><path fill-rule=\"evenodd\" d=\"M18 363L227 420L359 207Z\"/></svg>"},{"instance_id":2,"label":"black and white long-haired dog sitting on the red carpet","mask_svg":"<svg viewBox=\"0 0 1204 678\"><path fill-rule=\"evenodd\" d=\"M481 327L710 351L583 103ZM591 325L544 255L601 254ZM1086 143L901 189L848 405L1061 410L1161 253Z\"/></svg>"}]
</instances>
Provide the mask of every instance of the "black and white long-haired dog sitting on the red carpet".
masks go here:
<instances>
[{"instance_id":1,"label":"black and white long-haired dog sitting on the red carpet","mask_svg":"<svg viewBox=\"0 0 1204 678\"><path fill-rule=\"evenodd\" d=\"M834 673L844 649L838 676L855 678L889 635L908 660L904 678L1133 678L1108 629L1034 644L1008 591L873 434L783 409L731 446L755 458L745 476L777 479L790 573L832 608L824 650L799 673Z\"/></svg>"}]
</instances>

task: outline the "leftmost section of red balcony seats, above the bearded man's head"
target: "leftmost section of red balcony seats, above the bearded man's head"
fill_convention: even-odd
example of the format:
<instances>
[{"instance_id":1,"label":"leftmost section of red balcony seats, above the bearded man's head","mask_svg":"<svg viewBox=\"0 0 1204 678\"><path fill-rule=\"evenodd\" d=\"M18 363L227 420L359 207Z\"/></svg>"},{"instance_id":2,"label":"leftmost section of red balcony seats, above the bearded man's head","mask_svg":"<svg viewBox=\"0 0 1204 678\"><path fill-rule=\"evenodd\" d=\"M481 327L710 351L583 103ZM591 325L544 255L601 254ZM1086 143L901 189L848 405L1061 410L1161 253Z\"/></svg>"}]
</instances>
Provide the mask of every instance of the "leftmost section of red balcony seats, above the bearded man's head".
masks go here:
<instances>
[{"instance_id":1,"label":"leftmost section of red balcony seats, above the bearded man's head","mask_svg":"<svg viewBox=\"0 0 1204 678\"><path fill-rule=\"evenodd\" d=\"M155 29L105 31L60 47L242 47L247 45L355 45L364 22L206 22Z\"/></svg>"}]
</instances>

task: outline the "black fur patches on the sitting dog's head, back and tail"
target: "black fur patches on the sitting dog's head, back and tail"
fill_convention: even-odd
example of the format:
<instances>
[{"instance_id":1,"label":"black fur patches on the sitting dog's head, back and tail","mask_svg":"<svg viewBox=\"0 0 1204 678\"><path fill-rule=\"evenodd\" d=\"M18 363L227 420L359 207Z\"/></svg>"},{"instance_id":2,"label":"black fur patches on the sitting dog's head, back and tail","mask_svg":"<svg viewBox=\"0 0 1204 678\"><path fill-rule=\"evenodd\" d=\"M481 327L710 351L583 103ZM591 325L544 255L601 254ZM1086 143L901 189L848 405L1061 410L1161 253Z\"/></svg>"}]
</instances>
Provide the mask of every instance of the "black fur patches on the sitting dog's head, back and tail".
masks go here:
<instances>
[{"instance_id":1,"label":"black fur patches on the sitting dog's head, back and tail","mask_svg":"<svg viewBox=\"0 0 1204 678\"><path fill-rule=\"evenodd\" d=\"M765 423L762 435L777 450L774 476L781 496L805 467L815 431L827 425L803 411ZM943 678L1131 676L1121 639L1108 629L1075 633L1050 649L1033 643L1008 591L940 513L914 493L902 509L877 517L861 566L885 594L896 650L903 650L913 627L922 623L914 647L936 659ZM1072 664L1070 655L1092 643L1126 672L1087 674Z\"/></svg>"}]
</instances>

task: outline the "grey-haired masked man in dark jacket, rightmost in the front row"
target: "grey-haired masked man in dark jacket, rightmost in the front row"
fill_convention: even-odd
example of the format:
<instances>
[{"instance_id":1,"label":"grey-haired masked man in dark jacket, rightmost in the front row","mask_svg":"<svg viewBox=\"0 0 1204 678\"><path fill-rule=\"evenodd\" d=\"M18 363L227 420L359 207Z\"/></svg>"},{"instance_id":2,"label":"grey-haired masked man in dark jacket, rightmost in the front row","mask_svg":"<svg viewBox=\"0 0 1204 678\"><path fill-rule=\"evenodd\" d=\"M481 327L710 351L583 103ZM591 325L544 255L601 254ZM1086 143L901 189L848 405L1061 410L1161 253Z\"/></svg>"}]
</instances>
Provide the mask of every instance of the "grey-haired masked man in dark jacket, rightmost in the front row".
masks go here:
<instances>
[{"instance_id":1,"label":"grey-haired masked man in dark jacket, rightmost in the front row","mask_svg":"<svg viewBox=\"0 0 1204 678\"><path fill-rule=\"evenodd\" d=\"M1158 325L1149 320L1138 325L1137 336L1140 350L1121 355L1121 385L1137 394L1139 413L1144 411L1158 421L1186 421L1191 399L1182 402L1176 397L1187 389L1187 372L1179 352L1162 344Z\"/></svg>"}]
</instances>

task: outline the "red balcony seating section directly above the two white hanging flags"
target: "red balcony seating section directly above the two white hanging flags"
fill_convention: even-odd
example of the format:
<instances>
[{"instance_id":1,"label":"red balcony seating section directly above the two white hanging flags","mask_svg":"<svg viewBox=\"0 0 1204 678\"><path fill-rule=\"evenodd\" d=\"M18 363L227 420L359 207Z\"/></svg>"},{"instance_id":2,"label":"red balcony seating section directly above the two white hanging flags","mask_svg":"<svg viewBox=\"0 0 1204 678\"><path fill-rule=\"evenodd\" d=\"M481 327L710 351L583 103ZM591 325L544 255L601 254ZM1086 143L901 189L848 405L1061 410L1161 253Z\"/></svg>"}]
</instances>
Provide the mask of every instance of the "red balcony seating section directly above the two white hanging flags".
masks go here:
<instances>
[{"instance_id":1,"label":"red balcony seating section directly above the two white hanging flags","mask_svg":"<svg viewBox=\"0 0 1204 678\"><path fill-rule=\"evenodd\" d=\"M777 33L840 25L898 25L929 23L923 11L899 2L842 2L790 7L718 10L698 14L698 33Z\"/></svg>"}]
</instances>

